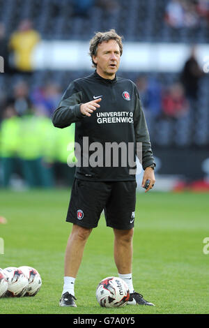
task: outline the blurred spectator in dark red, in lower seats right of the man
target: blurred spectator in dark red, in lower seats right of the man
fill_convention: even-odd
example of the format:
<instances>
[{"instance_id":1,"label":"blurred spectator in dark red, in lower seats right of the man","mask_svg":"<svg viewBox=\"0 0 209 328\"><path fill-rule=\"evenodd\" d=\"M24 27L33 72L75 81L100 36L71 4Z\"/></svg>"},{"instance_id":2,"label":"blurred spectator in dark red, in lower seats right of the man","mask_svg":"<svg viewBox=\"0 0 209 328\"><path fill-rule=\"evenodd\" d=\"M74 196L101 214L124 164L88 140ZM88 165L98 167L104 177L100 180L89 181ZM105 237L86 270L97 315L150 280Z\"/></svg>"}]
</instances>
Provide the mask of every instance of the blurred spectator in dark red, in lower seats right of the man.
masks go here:
<instances>
[{"instance_id":1,"label":"blurred spectator in dark red, in lower seats right of the man","mask_svg":"<svg viewBox=\"0 0 209 328\"><path fill-rule=\"evenodd\" d=\"M185 116L189 110L189 103L185 97L183 85L176 82L169 87L162 97L162 110L165 117L178 119Z\"/></svg>"}]
</instances>

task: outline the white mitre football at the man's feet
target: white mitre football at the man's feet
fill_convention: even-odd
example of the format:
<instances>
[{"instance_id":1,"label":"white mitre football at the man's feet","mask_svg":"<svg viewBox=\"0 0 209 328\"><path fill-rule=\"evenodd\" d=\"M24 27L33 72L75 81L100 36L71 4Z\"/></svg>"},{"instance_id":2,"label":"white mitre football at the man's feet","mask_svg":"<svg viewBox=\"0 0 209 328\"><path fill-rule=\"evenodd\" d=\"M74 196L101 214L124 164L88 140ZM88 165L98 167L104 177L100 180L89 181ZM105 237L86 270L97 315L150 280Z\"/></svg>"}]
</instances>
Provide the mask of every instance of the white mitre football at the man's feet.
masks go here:
<instances>
[{"instance_id":1,"label":"white mitre football at the man's feet","mask_svg":"<svg viewBox=\"0 0 209 328\"><path fill-rule=\"evenodd\" d=\"M96 299L105 308L125 306L129 297L127 284L118 277L104 278L96 289Z\"/></svg>"}]
</instances>

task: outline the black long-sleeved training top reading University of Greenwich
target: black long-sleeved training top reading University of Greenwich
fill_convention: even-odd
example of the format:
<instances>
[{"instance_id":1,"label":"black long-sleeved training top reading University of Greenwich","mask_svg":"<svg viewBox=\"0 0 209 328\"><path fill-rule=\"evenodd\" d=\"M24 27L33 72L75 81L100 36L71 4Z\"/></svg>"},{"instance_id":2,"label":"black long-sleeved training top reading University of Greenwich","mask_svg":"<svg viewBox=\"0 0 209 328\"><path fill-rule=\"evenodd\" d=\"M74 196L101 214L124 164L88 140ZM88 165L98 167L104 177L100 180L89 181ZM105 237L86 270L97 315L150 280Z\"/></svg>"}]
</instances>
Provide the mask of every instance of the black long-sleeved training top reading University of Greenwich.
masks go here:
<instances>
[{"instance_id":1,"label":"black long-sleeved training top reading University of Greenwich","mask_svg":"<svg viewBox=\"0 0 209 328\"><path fill-rule=\"evenodd\" d=\"M95 98L102 98L100 108L91 117L84 116L80 105ZM79 179L134 180L135 174L130 171L133 161L129 158L132 152L138 156L137 142L142 143L143 168L154 163L144 112L131 80L104 79L95 72L71 82L52 122L58 128L75 122L75 155L80 158L75 177Z\"/></svg>"}]
</instances>

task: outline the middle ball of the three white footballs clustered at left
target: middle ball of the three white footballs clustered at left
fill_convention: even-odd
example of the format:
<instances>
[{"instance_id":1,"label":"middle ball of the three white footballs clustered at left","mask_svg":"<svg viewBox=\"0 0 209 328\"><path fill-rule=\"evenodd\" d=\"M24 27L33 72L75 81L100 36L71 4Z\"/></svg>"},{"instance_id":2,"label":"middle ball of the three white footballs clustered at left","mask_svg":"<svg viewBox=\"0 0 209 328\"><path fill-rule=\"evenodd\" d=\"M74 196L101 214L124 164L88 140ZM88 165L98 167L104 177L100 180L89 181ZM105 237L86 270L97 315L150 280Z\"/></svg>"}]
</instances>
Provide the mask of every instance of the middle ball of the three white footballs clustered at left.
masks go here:
<instances>
[{"instance_id":1,"label":"middle ball of the three white footballs clustered at left","mask_svg":"<svg viewBox=\"0 0 209 328\"><path fill-rule=\"evenodd\" d=\"M8 281L6 296L22 297L26 294L29 281L20 269L17 267L7 267L3 269L3 274Z\"/></svg>"}]
</instances>

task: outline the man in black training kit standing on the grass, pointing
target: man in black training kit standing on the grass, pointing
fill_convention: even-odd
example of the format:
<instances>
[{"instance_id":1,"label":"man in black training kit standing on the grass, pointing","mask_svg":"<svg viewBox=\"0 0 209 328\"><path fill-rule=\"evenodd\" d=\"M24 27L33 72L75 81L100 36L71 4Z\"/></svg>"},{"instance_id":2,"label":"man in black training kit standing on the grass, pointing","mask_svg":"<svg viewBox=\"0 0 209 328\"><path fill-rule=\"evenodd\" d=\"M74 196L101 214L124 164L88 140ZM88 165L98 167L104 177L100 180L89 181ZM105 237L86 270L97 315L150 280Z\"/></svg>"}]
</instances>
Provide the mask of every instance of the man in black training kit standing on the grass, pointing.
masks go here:
<instances>
[{"instance_id":1,"label":"man in black training kit standing on the grass, pointing","mask_svg":"<svg viewBox=\"0 0 209 328\"><path fill-rule=\"evenodd\" d=\"M121 36L113 29L95 33L90 42L90 55L95 72L70 83L61 103L55 110L54 126L65 128L75 122L75 144L79 147L82 163L76 167L66 221L73 223L65 251L64 286L60 306L76 306L74 284L82 262L84 246L100 214L114 231L114 260L118 276L130 290L128 304L153 306L134 291L132 283L132 238L136 202L136 177L130 162L118 160L118 165L105 157L107 144L125 145L142 143L142 186L149 181L146 192L155 184L155 162L148 128L141 108L136 85L116 76L123 45ZM88 138L89 152L84 150ZM91 165L89 158L95 144L102 145L100 154L104 163ZM77 149L75 149L77 155ZM124 156L124 154L123 154ZM86 165L86 158L88 165ZM84 165L85 163L85 165Z\"/></svg>"}]
</instances>

